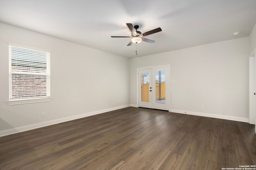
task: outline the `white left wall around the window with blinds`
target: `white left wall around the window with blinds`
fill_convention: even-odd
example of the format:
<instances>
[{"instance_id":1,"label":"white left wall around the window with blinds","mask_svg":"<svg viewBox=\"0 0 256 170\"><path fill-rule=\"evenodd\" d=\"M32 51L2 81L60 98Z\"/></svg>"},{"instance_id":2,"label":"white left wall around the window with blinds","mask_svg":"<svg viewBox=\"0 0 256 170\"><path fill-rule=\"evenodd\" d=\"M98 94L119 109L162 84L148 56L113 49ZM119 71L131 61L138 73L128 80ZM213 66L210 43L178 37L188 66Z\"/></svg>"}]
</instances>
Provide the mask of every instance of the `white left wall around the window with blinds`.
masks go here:
<instances>
[{"instance_id":1,"label":"white left wall around the window with blinds","mask_svg":"<svg viewBox=\"0 0 256 170\"><path fill-rule=\"evenodd\" d=\"M0 135L129 106L128 58L2 23L0 30ZM8 105L9 42L51 51L51 102Z\"/></svg>"}]
</instances>

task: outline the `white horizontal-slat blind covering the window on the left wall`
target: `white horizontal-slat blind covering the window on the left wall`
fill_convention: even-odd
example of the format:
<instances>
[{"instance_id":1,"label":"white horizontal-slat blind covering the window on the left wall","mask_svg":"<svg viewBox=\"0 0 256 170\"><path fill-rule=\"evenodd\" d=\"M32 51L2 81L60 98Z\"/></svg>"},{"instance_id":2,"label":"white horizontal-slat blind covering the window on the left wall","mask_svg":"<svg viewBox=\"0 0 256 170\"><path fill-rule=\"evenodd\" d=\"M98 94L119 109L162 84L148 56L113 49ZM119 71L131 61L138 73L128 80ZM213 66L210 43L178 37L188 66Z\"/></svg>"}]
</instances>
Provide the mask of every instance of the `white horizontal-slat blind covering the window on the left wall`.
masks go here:
<instances>
[{"instance_id":1,"label":"white horizontal-slat blind covering the window on the left wall","mask_svg":"<svg viewBox=\"0 0 256 170\"><path fill-rule=\"evenodd\" d=\"M9 45L10 100L50 97L50 53Z\"/></svg>"}]
</instances>

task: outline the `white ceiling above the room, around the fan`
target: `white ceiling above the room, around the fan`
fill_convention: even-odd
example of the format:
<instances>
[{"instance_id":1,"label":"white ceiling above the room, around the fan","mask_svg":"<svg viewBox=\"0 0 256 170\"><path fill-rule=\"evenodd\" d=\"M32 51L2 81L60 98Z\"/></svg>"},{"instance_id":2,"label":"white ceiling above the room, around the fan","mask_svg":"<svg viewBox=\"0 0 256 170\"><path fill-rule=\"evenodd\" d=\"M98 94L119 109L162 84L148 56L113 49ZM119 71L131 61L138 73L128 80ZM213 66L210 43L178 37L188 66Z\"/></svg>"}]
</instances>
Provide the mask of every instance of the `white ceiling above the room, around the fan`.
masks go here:
<instances>
[{"instance_id":1,"label":"white ceiling above the room, around the fan","mask_svg":"<svg viewBox=\"0 0 256 170\"><path fill-rule=\"evenodd\" d=\"M248 36L256 0L0 0L0 22L133 58L130 38L110 37L130 36L126 23L162 28L137 45L140 57Z\"/></svg>"}]
</instances>

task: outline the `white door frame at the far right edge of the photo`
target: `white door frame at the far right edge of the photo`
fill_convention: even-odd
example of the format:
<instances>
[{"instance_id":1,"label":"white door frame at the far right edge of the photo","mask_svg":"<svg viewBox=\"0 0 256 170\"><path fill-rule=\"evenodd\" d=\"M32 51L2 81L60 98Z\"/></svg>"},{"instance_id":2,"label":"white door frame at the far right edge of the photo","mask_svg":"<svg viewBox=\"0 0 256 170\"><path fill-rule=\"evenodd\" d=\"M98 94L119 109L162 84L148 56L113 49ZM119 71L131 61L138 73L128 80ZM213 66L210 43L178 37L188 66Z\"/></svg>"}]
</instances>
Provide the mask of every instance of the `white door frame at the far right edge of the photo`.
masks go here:
<instances>
[{"instance_id":1,"label":"white door frame at the far right edge of the photo","mask_svg":"<svg viewBox=\"0 0 256 170\"><path fill-rule=\"evenodd\" d=\"M249 55L249 123L255 124L256 133L256 48Z\"/></svg>"}]
</instances>

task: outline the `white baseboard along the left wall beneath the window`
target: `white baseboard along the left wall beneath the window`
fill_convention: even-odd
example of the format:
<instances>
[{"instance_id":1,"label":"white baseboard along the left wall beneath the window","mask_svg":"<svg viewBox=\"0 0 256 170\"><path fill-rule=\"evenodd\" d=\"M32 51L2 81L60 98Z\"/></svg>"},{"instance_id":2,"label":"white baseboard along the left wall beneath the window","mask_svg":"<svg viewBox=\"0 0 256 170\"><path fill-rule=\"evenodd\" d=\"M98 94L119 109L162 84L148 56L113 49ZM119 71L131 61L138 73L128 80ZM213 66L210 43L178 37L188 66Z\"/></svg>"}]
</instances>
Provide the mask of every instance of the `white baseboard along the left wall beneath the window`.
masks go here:
<instances>
[{"instance_id":1,"label":"white baseboard along the left wall beneath the window","mask_svg":"<svg viewBox=\"0 0 256 170\"><path fill-rule=\"evenodd\" d=\"M14 133L23 132L23 131L32 130L32 129L36 129L36 128L40 128L40 127L54 125L54 124L57 124L57 123L62 123L62 122L66 122L66 121L80 119L80 118L83 118L83 117L97 115L97 114L100 114L100 113L105 113L105 112L108 112L108 111L122 109L122 108L125 108L125 107L130 107L130 104L129 105L118 106L118 107L112 107L112 108L103 109L103 110L98 110L98 111L92 111L92 112L89 112L89 113L74 115L74 116L70 116L70 117L64 117L64 118L55 119L55 120L51 120L51 121L45 121L45 122L42 122L42 123L36 123L36 124L32 124L32 125L27 125L27 126L16 127L16 128L12 128L12 129L6 129L6 130L3 130L3 131L0 131L0 137L6 136L6 135L11 135L11 134L14 134Z\"/></svg>"}]
</instances>

